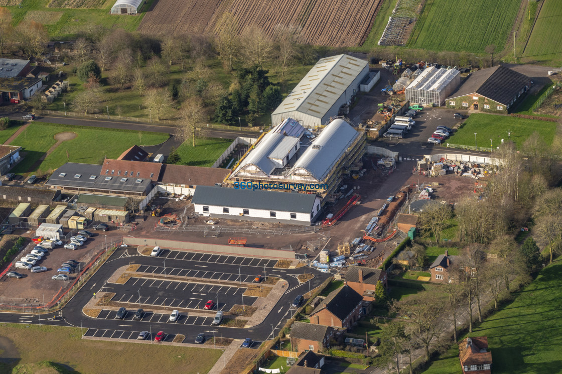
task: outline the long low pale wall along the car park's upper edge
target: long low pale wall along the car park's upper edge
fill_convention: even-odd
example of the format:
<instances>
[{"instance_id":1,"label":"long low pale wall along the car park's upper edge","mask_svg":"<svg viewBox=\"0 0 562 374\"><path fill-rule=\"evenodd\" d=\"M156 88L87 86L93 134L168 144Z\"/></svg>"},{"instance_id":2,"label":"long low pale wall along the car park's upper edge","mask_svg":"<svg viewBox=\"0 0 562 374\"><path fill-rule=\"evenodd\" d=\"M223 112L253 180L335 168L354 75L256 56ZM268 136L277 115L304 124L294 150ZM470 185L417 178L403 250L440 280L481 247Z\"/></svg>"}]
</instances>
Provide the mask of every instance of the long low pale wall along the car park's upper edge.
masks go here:
<instances>
[{"instance_id":1,"label":"long low pale wall along the car park's upper edge","mask_svg":"<svg viewBox=\"0 0 562 374\"><path fill-rule=\"evenodd\" d=\"M224 238L226 241L226 238ZM252 248L252 247L238 247L230 245L221 244L206 244L206 243L194 243L187 241L177 241L177 240L164 240L164 239L154 239L154 238L142 238L142 237L123 237L124 244L128 245L148 245L148 246L160 246L162 248L170 249L183 249L196 252L206 252L206 253L220 253L220 254L231 254L237 256L259 256L262 258L273 258L273 259L292 259L294 260L294 252L288 250L280 249L263 249L263 248Z\"/></svg>"}]
</instances>

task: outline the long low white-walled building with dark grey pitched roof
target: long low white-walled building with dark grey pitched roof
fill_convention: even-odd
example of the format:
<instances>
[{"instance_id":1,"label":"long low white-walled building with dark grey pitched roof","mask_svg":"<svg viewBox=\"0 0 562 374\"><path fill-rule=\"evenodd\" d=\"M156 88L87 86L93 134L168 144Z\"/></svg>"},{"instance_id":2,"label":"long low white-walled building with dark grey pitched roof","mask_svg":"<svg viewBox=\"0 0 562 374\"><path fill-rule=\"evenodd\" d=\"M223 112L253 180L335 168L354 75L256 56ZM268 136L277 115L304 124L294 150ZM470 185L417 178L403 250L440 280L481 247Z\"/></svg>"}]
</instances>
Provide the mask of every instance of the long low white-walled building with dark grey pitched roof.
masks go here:
<instances>
[{"instance_id":1,"label":"long low white-walled building with dark grey pitched roof","mask_svg":"<svg viewBox=\"0 0 562 374\"><path fill-rule=\"evenodd\" d=\"M206 217L310 225L320 214L320 197L311 193L200 186L193 195L196 213Z\"/></svg>"}]
</instances>

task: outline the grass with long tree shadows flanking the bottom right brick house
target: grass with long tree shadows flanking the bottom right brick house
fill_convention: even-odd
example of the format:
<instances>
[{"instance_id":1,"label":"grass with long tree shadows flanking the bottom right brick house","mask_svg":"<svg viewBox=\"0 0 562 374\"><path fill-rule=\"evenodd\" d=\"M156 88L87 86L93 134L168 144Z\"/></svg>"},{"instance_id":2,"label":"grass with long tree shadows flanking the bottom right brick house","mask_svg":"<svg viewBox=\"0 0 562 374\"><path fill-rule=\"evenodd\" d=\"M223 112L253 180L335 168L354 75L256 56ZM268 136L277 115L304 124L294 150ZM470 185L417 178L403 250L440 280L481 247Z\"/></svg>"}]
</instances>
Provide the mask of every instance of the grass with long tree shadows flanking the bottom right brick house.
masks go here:
<instances>
[{"instance_id":1,"label":"grass with long tree shadows flanking the bottom right brick house","mask_svg":"<svg viewBox=\"0 0 562 374\"><path fill-rule=\"evenodd\" d=\"M542 269L536 280L514 294L512 303L472 336L487 336L494 374L552 374L562 371L562 260ZM460 373L458 356L441 357L425 374Z\"/></svg>"}]
</instances>

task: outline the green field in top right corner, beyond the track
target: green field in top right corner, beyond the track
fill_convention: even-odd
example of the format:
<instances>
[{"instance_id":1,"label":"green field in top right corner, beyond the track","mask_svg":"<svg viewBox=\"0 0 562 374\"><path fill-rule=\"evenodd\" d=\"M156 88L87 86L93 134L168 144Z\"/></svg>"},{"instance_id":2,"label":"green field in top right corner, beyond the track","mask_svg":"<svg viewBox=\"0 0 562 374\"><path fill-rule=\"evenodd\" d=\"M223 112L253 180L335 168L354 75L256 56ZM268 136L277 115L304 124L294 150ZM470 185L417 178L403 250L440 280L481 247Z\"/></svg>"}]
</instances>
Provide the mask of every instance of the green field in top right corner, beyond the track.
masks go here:
<instances>
[{"instance_id":1,"label":"green field in top right corner, beyond the track","mask_svg":"<svg viewBox=\"0 0 562 374\"><path fill-rule=\"evenodd\" d=\"M527 48L523 57L531 57L538 62L552 62L559 66L562 61L562 2L543 0Z\"/></svg>"}]
</instances>

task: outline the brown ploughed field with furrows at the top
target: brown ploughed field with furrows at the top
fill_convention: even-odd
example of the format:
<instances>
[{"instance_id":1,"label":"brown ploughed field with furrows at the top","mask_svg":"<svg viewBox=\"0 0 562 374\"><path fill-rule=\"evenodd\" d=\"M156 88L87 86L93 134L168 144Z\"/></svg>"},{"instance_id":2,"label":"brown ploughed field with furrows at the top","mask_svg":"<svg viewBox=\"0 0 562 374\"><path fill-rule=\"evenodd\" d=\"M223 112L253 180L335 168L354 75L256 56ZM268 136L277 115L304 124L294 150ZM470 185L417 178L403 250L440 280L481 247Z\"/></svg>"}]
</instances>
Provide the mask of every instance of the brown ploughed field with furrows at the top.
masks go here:
<instances>
[{"instance_id":1,"label":"brown ploughed field with furrows at the top","mask_svg":"<svg viewBox=\"0 0 562 374\"><path fill-rule=\"evenodd\" d=\"M212 33L224 12L237 20L238 33L257 25L273 35L277 25L298 25L306 42L332 47L360 46L381 0L160 0L148 12L140 31Z\"/></svg>"}]
</instances>

